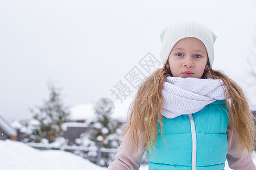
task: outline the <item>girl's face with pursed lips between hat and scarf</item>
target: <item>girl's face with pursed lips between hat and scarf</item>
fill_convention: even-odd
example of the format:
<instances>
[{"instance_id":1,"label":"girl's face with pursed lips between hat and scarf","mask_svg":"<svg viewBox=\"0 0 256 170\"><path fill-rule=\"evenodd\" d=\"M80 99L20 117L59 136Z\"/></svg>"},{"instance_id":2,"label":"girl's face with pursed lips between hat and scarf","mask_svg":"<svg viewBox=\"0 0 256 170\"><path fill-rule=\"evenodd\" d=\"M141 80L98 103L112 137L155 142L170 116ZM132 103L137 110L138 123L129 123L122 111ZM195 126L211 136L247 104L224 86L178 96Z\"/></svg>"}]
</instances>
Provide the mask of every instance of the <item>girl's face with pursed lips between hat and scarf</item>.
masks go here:
<instances>
[{"instance_id":1,"label":"girl's face with pursed lips between hat and scarf","mask_svg":"<svg viewBox=\"0 0 256 170\"><path fill-rule=\"evenodd\" d=\"M201 78L207 61L203 42L193 37L179 40L168 58L172 75L181 78Z\"/></svg>"}]
</instances>

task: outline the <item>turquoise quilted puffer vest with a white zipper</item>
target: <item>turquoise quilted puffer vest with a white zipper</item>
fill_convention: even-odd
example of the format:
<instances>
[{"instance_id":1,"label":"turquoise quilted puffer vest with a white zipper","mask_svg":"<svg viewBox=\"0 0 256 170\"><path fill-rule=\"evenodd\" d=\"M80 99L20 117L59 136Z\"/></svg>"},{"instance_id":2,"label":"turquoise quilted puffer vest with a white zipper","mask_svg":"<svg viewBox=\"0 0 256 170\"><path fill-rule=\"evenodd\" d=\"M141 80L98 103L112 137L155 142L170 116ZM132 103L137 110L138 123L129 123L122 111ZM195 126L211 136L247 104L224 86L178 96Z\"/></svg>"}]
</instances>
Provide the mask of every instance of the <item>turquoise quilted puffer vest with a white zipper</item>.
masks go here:
<instances>
[{"instance_id":1,"label":"turquoise quilted puffer vest with a white zipper","mask_svg":"<svg viewBox=\"0 0 256 170\"><path fill-rule=\"evenodd\" d=\"M225 100L216 100L193 114L163 117L167 147L159 125L154 154L151 149L147 152L148 169L224 169L228 122Z\"/></svg>"}]
</instances>

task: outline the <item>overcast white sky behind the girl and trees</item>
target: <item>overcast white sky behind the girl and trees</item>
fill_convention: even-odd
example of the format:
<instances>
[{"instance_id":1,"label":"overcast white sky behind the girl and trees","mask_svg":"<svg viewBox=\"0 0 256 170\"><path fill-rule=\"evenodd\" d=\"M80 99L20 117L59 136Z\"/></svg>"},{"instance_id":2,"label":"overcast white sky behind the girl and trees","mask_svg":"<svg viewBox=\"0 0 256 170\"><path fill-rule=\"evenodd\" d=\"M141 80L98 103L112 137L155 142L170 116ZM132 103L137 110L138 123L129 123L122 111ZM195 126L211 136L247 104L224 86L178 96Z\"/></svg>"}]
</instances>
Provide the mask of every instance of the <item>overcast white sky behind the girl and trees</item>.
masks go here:
<instances>
[{"instance_id":1,"label":"overcast white sky behind the girl and trees","mask_svg":"<svg viewBox=\"0 0 256 170\"><path fill-rule=\"evenodd\" d=\"M256 37L255 1L0 0L0 112L30 118L48 98L47 82L67 106L96 102L148 53L159 59L159 33L192 19L212 29L214 69L243 85Z\"/></svg>"}]
</instances>

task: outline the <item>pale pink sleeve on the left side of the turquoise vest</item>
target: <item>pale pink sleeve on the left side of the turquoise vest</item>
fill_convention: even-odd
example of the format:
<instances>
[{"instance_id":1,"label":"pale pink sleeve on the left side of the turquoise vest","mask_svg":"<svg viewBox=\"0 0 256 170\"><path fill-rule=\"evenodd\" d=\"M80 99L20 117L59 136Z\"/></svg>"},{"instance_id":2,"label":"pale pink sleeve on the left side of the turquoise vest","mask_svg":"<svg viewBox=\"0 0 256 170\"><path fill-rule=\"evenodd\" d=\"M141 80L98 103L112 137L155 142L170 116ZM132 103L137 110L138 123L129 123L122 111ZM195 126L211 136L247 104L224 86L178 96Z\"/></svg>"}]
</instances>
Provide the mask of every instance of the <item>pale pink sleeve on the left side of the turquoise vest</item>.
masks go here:
<instances>
[{"instance_id":1,"label":"pale pink sleeve on the left side of the turquoise vest","mask_svg":"<svg viewBox=\"0 0 256 170\"><path fill-rule=\"evenodd\" d=\"M140 138L142 134L140 135ZM117 154L115 155L115 160L112 162L108 169L109 170L126 170L126 169L139 169L141 166L141 160L143 157L143 148L145 142L142 140L141 145L138 148L134 142L130 142L128 133L125 135Z\"/></svg>"}]
</instances>

